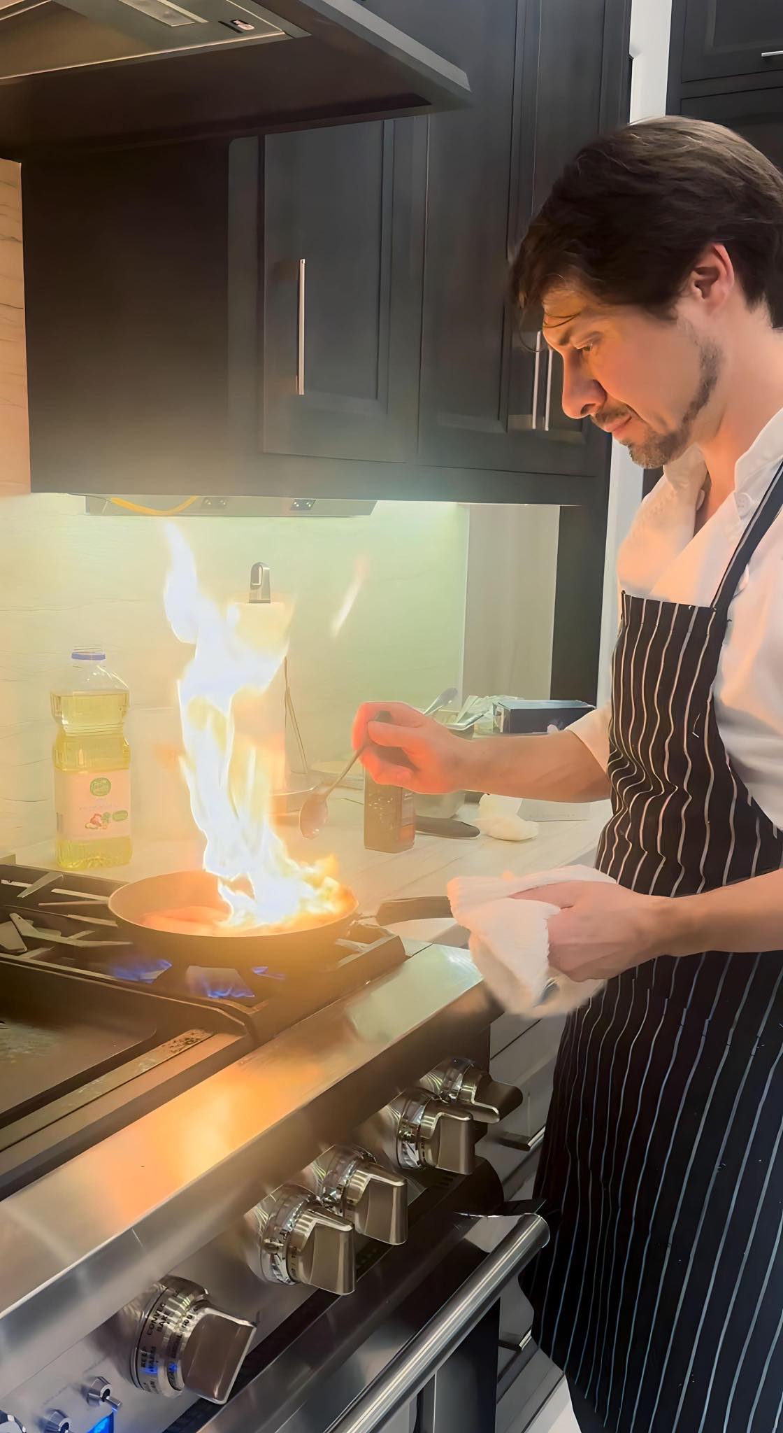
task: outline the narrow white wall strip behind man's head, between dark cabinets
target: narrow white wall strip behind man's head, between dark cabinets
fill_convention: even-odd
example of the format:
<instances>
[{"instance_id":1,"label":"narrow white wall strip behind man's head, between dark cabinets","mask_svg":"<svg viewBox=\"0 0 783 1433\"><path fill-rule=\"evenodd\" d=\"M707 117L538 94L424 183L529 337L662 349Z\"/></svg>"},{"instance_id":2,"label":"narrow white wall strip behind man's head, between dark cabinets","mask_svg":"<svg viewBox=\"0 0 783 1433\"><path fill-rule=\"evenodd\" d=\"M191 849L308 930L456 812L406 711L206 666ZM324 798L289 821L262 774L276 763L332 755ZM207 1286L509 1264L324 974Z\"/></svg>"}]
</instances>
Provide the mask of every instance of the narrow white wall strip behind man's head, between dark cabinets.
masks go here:
<instances>
[{"instance_id":1,"label":"narrow white wall strip behind man's head, between dark cabinets","mask_svg":"<svg viewBox=\"0 0 783 1433\"><path fill-rule=\"evenodd\" d=\"M631 6L631 123L666 113L671 0L633 0ZM611 451L607 517L607 556L601 613L598 702L608 701L611 652L617 638L617 552L641 502L641 469L618 443Z\"/></svg>"}]
</instances>

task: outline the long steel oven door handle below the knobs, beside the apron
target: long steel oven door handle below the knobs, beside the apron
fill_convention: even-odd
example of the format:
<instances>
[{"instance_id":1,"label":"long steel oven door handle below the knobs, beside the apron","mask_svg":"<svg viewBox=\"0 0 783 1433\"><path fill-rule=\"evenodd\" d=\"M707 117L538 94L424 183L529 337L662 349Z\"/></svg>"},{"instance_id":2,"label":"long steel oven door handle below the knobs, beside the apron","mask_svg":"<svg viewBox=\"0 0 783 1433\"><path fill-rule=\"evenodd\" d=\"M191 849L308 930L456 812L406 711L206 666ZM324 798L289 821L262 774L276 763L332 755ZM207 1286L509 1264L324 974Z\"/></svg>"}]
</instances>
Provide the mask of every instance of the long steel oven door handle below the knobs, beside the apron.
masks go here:
<instances>
[{"instance_id":1,"label":"long steel oven door handle below the knobs, beside the apron","mask_svg":"<svg viewBox=\"0 0 783 1433\"><path fill-rule=\"evenodd\" d=\"M392 1358L329 1433L372 1433L405 1407L492 1307L550 1237L538 1215L514 1219L505 1238L419 1334Z\"/></svg>"}]
</instances>

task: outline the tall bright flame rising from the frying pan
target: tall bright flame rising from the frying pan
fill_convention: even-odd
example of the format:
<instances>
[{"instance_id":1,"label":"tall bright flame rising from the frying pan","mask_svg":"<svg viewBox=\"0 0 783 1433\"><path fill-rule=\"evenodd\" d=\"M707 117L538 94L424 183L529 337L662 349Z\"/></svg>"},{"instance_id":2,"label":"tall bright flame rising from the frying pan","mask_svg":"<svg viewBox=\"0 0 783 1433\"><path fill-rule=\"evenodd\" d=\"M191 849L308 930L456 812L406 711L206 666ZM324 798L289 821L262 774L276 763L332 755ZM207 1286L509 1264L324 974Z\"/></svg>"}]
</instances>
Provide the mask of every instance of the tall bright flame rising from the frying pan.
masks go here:
<instances>
[{"instance_id":1,"label":"tall bright flame rising from the frying pan","mask_svg":"<svg viewBox=\"0 0 783 1433\"><path fill-rule=\"evenodd\" d=\"M348 910L352 897L334 861L302 864L288 853L272 821L285 768L282 734L261 747L242 721L282 668L291 610L278 602L230 602L222 610L200 590L193 553L173 524L167 539L166 616L175 636L195 649L177 685L180 767L206 838L203 868L218 877L228 906L220 929L322 924Z\"/></svg>"}]
</instances>

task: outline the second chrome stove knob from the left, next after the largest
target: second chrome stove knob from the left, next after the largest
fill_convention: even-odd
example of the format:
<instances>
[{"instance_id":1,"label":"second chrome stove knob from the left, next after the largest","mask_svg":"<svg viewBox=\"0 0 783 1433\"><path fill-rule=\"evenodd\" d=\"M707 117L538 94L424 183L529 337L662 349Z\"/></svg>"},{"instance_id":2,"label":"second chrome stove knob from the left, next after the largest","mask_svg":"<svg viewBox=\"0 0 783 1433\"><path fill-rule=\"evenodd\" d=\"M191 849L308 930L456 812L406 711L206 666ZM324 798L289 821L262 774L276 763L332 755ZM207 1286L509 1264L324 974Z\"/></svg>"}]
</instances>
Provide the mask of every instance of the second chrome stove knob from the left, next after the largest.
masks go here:
<instances>
[{"instance_id":1,"label":"second chrome stove knob from the left, next after the largest","mask_svg":"<svg viewBox=\"0 0 783 1433\"><path fill-rule=\"evenodd\" d=\"M248 1221L262 1278L271 1284L308 1284L328 1294L354 1293L352 1225L322 1209L306 1189L295 1185L276 1189L251 1209Z\"/></svg>"}]
</instances>

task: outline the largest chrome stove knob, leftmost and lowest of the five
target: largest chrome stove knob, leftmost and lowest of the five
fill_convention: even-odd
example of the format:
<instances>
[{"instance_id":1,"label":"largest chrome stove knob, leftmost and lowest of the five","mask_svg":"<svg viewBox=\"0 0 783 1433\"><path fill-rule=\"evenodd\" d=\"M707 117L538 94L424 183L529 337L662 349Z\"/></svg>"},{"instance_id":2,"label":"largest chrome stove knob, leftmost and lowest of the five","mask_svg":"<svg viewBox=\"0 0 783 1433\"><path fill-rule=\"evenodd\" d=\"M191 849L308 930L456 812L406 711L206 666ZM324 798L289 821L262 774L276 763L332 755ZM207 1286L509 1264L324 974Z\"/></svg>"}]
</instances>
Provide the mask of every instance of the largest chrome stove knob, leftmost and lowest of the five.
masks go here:
<instances>
[{"instance_id":1,"label":"largest chrome stove knob, leftmost and lowest of the five","mask_svg":"<svg viewBox=\"0 0 783 1433\"><path fill-rule=\"evenodd\" d=\"M172 1399L185 1389L225 1403L255 1328L215 1308L199 1284L169 1278L152 1290L130 1360L130 1376L146 1393Z\"/></svg>"}]
</instances>

